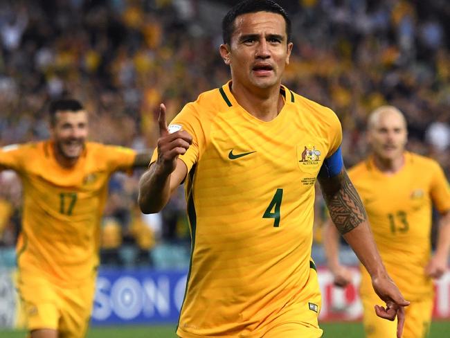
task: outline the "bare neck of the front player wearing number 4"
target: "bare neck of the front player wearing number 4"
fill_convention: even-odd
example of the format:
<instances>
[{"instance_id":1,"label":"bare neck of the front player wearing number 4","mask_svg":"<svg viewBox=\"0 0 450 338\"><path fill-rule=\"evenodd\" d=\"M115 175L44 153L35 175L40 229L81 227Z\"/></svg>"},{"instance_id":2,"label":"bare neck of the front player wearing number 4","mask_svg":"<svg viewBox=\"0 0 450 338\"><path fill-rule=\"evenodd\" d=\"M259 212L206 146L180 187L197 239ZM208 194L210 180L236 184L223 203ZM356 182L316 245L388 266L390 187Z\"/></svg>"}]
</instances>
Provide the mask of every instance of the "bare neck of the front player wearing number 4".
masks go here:
<instances>
[{"instance_id":1,"label":"bare neck of the front player wearing number 4","mask_svg":"<svg viewBox=\"0 0 450 338\"><path fill-rule=\"evenodd\" d=\"M255 91L242 84L232 82L233 96L249 114L261 121L272 121L280 113L285 102L280 94L280 84Z\"/></svg>"}]
</instances>

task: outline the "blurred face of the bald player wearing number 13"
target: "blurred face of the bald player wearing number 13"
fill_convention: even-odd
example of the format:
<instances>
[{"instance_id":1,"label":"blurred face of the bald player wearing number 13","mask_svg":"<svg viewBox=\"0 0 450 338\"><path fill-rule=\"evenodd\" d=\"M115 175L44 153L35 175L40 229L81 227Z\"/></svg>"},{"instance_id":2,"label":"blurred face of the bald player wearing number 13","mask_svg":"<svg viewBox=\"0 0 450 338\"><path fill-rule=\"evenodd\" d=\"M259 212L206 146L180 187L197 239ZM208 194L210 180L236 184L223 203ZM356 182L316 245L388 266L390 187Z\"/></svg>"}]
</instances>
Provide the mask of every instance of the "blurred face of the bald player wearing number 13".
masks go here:
<instances>
[{"instance_id":1,"label":"blurred face of the bald player wearing number 13","mask_svg":"<svg viewBox=\"0 0 450 338\"><path fill-rule=\"evenodd\" d=\"M368 131L368 141L375 156L394 160L402 157L407 131L404 118L397 112L382 112Z\"/></svg>"}]
</instances>

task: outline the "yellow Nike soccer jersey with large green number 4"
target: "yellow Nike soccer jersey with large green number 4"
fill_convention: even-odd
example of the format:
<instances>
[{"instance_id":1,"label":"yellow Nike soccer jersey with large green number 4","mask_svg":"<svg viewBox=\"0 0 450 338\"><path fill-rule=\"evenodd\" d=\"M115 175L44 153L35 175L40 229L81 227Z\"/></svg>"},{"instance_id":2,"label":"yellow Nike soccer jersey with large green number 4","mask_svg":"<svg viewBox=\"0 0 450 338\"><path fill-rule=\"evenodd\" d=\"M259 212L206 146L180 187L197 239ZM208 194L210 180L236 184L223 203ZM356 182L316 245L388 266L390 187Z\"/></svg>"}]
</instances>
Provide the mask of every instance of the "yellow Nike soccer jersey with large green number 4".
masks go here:
<instances>
[{"instance_id":1,"label":"yellow Nike soccer jersey with large green number 4","mask_svg":"<svg viewBox=\"0 0 450 338\"><path fill-rule=\"evenodd\" d=\"M281 87L280 114L260 121L229 83L188 103L169 126L193 138L180 157L192 235L181 337L261 337L301 322L308 288L318 292L308 284L314 183L341 144L339 119Z\"/></svg>"}]
</instances>

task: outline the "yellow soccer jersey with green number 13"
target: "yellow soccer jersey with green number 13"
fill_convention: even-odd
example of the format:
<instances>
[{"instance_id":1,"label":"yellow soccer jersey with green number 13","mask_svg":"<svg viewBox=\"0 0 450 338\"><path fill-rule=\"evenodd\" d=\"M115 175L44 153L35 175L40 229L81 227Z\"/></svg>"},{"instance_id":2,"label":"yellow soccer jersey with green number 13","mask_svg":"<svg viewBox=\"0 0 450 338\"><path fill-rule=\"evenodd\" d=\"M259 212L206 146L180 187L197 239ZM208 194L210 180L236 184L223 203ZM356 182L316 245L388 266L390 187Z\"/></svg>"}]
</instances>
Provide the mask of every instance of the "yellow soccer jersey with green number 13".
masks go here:
<instances>
[{"instance_id":1,"label":"yellow soccer jersey with green number 13","mask_svg":"<svg viewBox=\"0 0 450 338\"><path fill-rule=\"evenodd\" d=\"M405 165L395 175L384 175L372 158L349 175L390 276L409 301L431 296L433 283L424 274L431 258L431 206L450 209L449 184L438 163L406 152ZM361 292L373 292L370 277L361 270Z\"/></svg>"}]
</instances>

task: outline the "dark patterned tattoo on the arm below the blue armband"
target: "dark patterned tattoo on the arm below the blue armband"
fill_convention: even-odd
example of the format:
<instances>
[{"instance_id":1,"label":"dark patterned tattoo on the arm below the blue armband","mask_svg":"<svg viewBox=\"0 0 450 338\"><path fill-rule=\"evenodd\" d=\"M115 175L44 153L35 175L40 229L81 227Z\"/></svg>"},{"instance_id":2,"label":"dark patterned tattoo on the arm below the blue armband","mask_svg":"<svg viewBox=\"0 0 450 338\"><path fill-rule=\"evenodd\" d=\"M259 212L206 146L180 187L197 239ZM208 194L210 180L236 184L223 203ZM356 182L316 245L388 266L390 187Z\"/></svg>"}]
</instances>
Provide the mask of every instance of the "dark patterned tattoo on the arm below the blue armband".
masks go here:
<instances>
[{"instance_id":1,"label":"dark patterned tattoo on the arm below the blue armband","mask_svg":"<svg viewBox=\"0 0 450 338\"><path fill-rule=\"evenodd\" d=\"M341 235L367 220L363 202L345 170L331 179L321 179L321 190L330 217Z\"/></svg>"}]
</instances>

